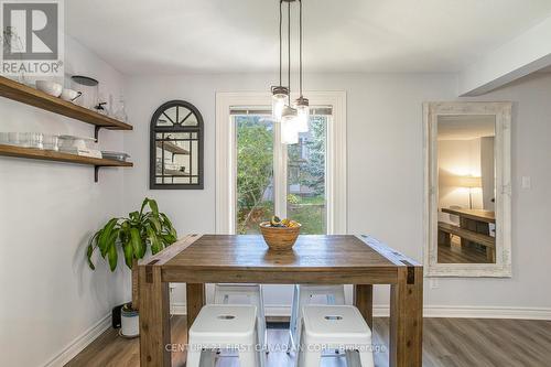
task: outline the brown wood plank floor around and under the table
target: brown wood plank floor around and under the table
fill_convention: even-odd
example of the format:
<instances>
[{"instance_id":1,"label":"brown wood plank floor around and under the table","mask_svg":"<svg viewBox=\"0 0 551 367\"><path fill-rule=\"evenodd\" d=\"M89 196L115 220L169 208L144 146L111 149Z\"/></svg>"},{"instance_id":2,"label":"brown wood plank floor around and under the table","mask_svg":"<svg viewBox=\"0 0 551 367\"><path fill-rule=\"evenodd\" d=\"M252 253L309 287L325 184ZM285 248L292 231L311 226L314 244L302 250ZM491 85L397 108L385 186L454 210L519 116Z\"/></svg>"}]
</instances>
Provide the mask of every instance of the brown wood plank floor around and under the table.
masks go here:
<instances>
[{"instance_id":1,"label":"brown wood plank floor around and under the table","mask_svg":"<svg viewBox=\"0 0 551 367\"><path fill-rule=\"evenodd\" d=\"M185 316L171 319L173 343L185 344ZM272 352L267 367L293 366L292 357L281 347L288 331L270 328L268 341ZM375 319L374 344L377 367L388 366L388 319ZM279 350L278 350L278 347ZM231 356L218 359L217 367L237 367ZM138 367L139 341L119 337L108 330L66 366ZM173 353L173 366L184 366L183 353ZM323 358L323 367L345 367L343 357ZM548 367L551 366L551 321L424 319L424 367Z\"/></svg>"}]
</instances>

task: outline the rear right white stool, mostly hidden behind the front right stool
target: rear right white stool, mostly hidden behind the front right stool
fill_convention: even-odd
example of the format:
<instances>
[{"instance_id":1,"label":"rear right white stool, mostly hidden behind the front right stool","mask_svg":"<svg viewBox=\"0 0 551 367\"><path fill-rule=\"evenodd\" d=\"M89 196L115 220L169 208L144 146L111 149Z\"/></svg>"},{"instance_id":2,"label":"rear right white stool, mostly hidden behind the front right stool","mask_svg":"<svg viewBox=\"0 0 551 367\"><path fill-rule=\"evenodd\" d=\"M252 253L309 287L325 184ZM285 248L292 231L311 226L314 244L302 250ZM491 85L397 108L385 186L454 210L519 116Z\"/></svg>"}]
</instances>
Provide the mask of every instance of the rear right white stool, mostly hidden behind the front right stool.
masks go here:
<instances>
[{"instance_id":1,"label":"rear right white stool, mostly hidden behind the front right stool","mask_svg":"<svg viewBox=\"0 0 551 367\"><path fill-rule=\"evenodd\" d=\"M301 345L301 311L312 301L314 295L325 295L327 304L345 304L344 285L295 284L291 322L289 323L289 348L293 350Z\"/></svg>"}]
</instances>

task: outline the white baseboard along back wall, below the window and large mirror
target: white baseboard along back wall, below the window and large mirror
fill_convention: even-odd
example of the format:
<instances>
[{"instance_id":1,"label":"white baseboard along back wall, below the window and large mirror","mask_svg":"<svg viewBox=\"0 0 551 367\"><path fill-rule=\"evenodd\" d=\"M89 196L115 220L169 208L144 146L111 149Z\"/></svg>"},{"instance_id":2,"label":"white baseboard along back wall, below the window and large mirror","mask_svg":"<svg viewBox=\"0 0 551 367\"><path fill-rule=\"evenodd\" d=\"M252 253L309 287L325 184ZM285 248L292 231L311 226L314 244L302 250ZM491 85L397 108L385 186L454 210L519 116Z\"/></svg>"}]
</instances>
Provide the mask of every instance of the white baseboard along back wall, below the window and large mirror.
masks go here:
<instances>
[{"instance_id":1,"label":"white baseboard along back wall, below the window and large mirror","mask_svg":"<svg viewBox=\"0 0 551 367\"><path fill-rule=\"evenodd\" d=\"M267 316L289 316L290 305L267 305ZM185 315L185 303L173 303L172 313ZM389 306L374 305L374 316L388 317ZM551 320L551 309L544 307L499 307L499 306L447 306L428 305L423 309L424 317L463 317L463 319L521 319L521 320Z\"/></svg>"}]
</instances>

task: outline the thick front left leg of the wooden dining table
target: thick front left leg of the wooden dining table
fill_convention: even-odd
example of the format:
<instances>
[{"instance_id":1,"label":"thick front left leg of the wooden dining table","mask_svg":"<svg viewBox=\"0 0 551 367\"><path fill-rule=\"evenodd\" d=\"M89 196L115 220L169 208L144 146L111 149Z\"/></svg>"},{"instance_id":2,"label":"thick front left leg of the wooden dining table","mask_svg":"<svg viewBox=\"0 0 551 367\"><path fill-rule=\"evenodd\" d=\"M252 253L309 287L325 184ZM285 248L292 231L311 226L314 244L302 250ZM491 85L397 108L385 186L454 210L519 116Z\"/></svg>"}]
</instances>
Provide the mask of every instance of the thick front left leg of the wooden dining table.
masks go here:
<instances>
[{"instance_id":1,"label":"thick front left leg of the wooden dining table","mask_svg":"<svg viewBox=\"0 0 551 367\"><path fill-rule=\"evenodd\" d=\"M140 366L170 367L171 343L169 283L161 267L140 266Z\"/></svg>"}]
</instances>

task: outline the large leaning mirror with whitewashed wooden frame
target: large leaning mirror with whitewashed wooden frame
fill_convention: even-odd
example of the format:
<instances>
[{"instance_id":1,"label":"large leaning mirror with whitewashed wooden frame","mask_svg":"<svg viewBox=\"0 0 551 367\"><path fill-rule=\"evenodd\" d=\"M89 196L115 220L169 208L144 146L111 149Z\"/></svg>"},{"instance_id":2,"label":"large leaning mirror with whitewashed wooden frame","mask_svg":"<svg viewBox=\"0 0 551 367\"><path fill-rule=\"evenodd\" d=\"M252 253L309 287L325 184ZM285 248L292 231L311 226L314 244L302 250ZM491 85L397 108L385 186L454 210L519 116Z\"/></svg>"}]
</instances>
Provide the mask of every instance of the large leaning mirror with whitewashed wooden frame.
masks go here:
<instances>
[{"instance_id":1,"label":"large leaning mirror with whitewashed wooden frame","mask_svg":"<svg viewBox=\"0 0 551 367\"><path fill-rule=\"evenodd\" d=\"M510 277L510 102L426 102L425 271Z\"/></svg>"}]
</instances>

